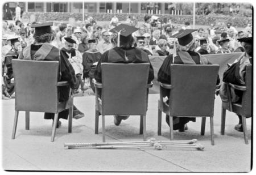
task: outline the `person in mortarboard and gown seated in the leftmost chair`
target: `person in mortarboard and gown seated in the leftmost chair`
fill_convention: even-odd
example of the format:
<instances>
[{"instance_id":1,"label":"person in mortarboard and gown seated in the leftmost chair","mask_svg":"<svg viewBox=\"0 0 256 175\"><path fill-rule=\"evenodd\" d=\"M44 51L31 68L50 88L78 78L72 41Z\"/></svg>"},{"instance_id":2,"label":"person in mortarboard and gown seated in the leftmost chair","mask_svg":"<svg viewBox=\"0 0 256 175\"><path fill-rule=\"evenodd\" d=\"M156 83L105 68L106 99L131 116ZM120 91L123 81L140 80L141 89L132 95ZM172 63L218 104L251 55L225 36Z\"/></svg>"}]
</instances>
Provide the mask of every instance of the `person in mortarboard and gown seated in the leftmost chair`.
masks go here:
<instances>
[{"instance_id":1,"label":"person in mortarboard and gown seated in the leftmost chair","mask_svg":"<svg viewBox=\"0 0 256 175\"><path fill-rule=\"evenodd\" d=\"M34 23L31 25L35 28L34 32L34 44L31 44L24 48L23 52L20 53L19 59L28 59L34 61L59 61L60 62L60 81L68 81L69 86L59 87L59 101L64 102L69 99L69 90L79 88L79 81L76 78L75 71L69 63L67 57L64 56L63 52L60 52L55 46L51 45L52 40L51 25L52 22L48 23ZM32 72L31 72L32 73ZM59 119L68 119L68 109L63 110L59 113ZM44 119L54 119L54 113L45 113ZM73 118L78 119L84 117L84 113L80 112L76 106L73 106ZM61 122L57 122L57 127L60 127Z\"/></svg>"}]
</instances>

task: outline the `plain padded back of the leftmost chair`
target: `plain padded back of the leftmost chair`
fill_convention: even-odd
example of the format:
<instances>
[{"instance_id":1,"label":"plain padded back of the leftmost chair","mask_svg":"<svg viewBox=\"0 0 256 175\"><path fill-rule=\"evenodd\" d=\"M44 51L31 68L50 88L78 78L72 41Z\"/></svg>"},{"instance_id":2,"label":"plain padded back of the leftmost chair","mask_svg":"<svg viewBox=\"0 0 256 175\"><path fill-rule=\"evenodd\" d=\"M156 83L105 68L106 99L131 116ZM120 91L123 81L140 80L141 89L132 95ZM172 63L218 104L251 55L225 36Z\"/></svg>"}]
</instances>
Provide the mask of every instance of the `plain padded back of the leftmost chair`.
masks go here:
<instances>
[{"instance_id":1,"label":"plain padded back of the leftmost chair","mask_svg":"<svg viewBox=\"0 0 256 175\"><path fill-rule=\"evenodd\" d=\"M15 110L57 112L58 61L13 59Z\"/></svg>"}]
</instances>

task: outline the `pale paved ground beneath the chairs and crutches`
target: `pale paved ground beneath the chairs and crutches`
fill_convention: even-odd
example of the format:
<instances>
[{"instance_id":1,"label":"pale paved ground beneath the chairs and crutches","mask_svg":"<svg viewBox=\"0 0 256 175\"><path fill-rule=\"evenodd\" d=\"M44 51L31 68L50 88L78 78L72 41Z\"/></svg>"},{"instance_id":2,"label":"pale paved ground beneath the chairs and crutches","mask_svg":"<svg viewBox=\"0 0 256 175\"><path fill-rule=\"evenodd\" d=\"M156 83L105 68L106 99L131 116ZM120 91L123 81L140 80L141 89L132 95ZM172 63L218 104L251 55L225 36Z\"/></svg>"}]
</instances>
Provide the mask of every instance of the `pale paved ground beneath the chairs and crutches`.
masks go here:
<instances>
[{"instance_id":1,"label":"pale paved ground beneath the chairs and crutches","mask_svg":"<svg viewBox=\"0 0 256 175\"><path fill-rule=\"evenodd\" d=\"M168 125L162 122L162 136L157 135L157 100L152 94L148 100L147 137L168 140ZM77 96L75 104L86 117L73 120L73 133L68 133L68 122L62 121L56 130L55 142L50 142L52 121L44 120L43 113L31 113L30 130L24 129L24 112L20 112L16 138L11 140L15 100L2 100L2 168L5 170L57 171L114 171L114 172L249 172L251 139L246 145L243 134L233 129L238 122L235 114L227 113L226 133L220 135L221 100L216 97L214 109L215 146L210 144L209 119L205 136L200 135L201 119L188 123L184 133L175 131L175 139L197 139L204 151L196 150L65 150L64 142L101 142L100 133L94 134L94 96ZM139 135L139 117L131 116L120 126L113 117L106 116L106 140L123 142L142 140ZM251 119L247 119L249 133ZM249 135L251 138L251 135Z\"/></svg>"}]
</instances>

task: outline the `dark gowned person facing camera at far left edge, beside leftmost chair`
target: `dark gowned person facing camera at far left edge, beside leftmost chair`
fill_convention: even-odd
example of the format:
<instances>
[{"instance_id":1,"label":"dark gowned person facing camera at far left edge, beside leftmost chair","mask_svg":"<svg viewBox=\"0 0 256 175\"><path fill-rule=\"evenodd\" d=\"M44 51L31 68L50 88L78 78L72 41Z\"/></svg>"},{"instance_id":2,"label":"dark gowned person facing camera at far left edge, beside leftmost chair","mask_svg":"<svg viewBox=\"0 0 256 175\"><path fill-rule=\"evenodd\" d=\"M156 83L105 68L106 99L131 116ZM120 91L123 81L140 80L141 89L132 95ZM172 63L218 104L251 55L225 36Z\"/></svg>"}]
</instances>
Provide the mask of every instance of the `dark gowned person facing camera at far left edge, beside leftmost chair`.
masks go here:
<instances>
[{"instance_id":1,"label":"dark gowned person facing camera at far left edge, beside leftmost chair","mask_svg":"<svg viewBox=\"0 0 256 175\"><path fill-rule=\"evenodd\" d=\"M4 65L6 66L6 78L5 82L5 90L11 96L14 93L14 83L11 83L11 79L13 78L13 66L11 64L12 59L18 59L19 54L14 49L11 49L5 56ZM3 89L4 90L4 89Z\"/></svg>"}]
</instances>

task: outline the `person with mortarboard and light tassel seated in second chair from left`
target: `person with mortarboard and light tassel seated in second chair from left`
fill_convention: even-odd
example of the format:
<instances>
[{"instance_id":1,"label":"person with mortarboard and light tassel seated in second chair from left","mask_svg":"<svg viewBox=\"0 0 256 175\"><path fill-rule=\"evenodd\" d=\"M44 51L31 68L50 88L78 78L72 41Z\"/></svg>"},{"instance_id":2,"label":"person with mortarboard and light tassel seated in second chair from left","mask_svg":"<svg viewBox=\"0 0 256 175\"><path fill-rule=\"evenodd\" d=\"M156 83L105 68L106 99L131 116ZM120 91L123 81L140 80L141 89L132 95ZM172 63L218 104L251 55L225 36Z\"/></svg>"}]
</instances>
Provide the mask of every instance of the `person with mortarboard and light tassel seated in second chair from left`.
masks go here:
<instances>
[{"instance_id":1,"label":"person with mortarboard and light tassel seated in second chair from left","mask_svg":"<svg viewBox=\"0 0 256 175\"><path fill-rule=\"evenodd\" d=\"M132 27L126 24L120 24L117 27L110 30L110 32L117 33L117 46L113 49L106 51L102 54L100 61L94 72L94 78L97 82L101 83L101 63L143 63L150 60L146 52L141 49L133 47L133 32L137 31L138 28ZM154 79L154 70L150 63L150 72L148 74L148 83ZM99 93L101 96L101 93ZM114 116L114 124L120 125L122 119L127 119L129 116Z\"/></svg>"}]
</instances>

